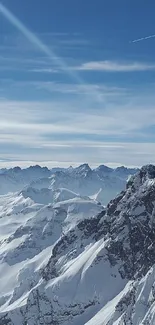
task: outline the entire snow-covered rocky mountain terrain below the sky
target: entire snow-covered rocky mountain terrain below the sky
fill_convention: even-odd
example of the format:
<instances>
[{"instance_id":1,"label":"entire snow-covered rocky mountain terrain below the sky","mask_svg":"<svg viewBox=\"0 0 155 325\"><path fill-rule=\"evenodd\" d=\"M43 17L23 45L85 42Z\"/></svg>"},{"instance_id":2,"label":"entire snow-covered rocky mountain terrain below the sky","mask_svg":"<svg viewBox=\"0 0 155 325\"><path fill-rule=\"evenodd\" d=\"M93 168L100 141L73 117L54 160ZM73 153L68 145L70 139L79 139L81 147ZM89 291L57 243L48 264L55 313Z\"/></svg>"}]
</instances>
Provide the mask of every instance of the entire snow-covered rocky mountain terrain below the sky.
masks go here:
<instances>
[{"instance_id":1,"label":"entire snow-covered rocky mountain terrain below the sky","mask_svg":"<svg viewBox=\"0 0 155 325\"><path fill-rule=\"evenodd\" d=\"M0 325L154 325L155 166L37 169L0 196ZM105 174L132 174L106 207Z\"/></svg>"}]
</instances>

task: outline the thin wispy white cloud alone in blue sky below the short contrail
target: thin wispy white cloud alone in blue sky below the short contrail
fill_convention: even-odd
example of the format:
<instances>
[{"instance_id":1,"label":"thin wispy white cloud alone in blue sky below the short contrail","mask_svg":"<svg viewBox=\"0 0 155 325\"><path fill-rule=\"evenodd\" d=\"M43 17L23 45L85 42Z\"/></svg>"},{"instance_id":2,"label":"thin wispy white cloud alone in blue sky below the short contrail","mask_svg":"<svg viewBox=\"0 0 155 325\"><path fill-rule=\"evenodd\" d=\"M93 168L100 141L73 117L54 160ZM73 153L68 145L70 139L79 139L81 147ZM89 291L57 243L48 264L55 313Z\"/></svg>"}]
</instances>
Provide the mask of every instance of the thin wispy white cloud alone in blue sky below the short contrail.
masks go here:
<instances>
[{"instance_id":1,"label":"thin wispy white cloud alone in blue sky below the short contrail","mask_svg":"<svg viewBox=\"0 0 155 325\"><path fill-rule=\"evenodd\" d=\"M103 72L134 72L155 70L155 63L130 62L123 63L117 61L90 61L74 67L83 71L103 71Z\"/></svg>"}]
</instances>

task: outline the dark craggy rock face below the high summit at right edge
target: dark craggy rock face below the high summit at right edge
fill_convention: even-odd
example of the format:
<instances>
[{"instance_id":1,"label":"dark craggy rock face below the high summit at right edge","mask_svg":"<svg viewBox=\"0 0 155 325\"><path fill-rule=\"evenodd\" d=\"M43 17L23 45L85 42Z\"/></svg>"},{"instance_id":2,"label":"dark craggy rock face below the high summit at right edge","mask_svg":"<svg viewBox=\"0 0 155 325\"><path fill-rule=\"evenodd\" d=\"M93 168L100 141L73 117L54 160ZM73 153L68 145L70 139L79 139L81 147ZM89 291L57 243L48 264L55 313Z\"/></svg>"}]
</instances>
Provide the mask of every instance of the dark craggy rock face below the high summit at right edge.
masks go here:
<instances>
[{"instance_id":1,"label":"dark craggy rock face below the high summit at right edge","mask_svg":"<svg viewBox=\"0 0 155 325\"><path fill-rule=\"evenodd\" d=\"M155 167L145 166L133 176L132 186L140 177L142 191L135 196L130 192L122 192L107 206L107 216L110 216L109 235L110 242L107 246L107 254L112 265L120 261L120 273L122 277L133 279L145 275L155 263L155 224L154 203L155 185L145 186L148 178L154 179ZM128 195L129 194L129 195ZM133 195L133 197L132 197ZM124 206L121 205L124 202ZM143 207L142 212L136 209ZM105 229L107 220L104 219L102 228Z\"/></svg>"}]
</instances>

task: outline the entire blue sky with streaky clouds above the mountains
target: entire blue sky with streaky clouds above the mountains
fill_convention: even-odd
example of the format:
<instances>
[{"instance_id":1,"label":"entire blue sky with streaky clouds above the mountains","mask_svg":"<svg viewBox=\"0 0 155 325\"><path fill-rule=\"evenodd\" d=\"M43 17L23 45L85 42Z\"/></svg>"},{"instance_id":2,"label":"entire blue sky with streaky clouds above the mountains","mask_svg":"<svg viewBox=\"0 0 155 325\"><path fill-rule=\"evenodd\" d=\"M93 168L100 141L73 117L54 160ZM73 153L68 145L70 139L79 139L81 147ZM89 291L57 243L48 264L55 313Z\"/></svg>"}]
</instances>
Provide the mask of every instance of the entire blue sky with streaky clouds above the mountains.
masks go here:
<instances>
[{"instance_id":1,"label":"entire blue sky with streaky clouds above the mountains","mask_svg":"<svg viewBox=\"0 0 155 325\"><path fill-rule=\"evenodd\" d=\"M155 163L154 12L153 0L0 2L0 167Z\"/></svg>"}]
</instances>

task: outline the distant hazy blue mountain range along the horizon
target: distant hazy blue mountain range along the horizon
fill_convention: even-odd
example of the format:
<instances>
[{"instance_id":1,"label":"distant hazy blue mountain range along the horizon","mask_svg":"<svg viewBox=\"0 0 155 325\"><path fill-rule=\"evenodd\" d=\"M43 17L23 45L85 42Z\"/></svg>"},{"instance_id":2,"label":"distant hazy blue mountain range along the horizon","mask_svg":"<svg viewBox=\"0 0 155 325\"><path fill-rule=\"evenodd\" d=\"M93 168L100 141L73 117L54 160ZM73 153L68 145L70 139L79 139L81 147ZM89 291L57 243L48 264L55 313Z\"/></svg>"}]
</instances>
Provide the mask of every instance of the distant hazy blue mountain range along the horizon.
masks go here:
<instances>
[{"instance_id":1,"label":"distant hazy blue mountain range along the horizon","mask_svg":"<svg viewBox=\"0 0 155 325\"><path fill-rule=\"evenodd\" d=\"M125 188L126 180L136 171L123 166L112 169L104 165L92 170L88 164L77 168L53 168L52 170L40 166L31 166L27 169L15 167L1 170L0 195L20 191L25 186L36 190L48 188L53 191L67 188L79 195L96 198L102 204L107 204Z\"/></svg>"}]
</instances>

